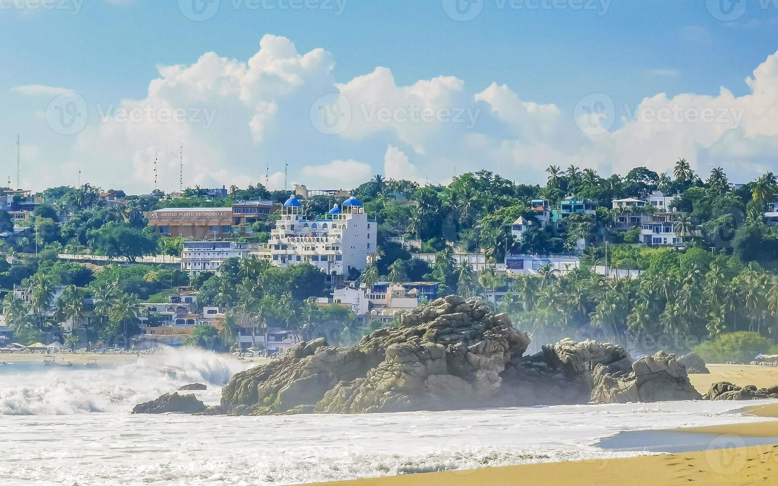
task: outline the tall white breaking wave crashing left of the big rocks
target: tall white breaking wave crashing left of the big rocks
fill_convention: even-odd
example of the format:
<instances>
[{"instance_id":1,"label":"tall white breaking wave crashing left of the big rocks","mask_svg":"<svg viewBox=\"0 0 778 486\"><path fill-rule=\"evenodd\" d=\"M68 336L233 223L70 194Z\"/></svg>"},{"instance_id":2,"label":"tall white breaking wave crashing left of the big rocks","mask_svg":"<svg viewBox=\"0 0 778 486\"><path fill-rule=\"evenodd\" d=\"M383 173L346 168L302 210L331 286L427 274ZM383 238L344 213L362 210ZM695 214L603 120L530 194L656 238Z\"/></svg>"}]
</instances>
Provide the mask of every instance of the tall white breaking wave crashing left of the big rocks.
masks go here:
<instances>
[{"instance_id":1,"label":"tall white breaking wave crashing left of the big rocks","mask_svg":"<svg viewBox=\"0 0 778 486\"><path fill-rule=\"evenodd\" d=\"M170 349L164 355L111 368L6 373L0 386L0 415L128 411L135 404L195 382L209 384L209 390L198 397L213 402L219 400L226 380L245 367L233 358L207 351Z\"/></svg>"}]
</instances>

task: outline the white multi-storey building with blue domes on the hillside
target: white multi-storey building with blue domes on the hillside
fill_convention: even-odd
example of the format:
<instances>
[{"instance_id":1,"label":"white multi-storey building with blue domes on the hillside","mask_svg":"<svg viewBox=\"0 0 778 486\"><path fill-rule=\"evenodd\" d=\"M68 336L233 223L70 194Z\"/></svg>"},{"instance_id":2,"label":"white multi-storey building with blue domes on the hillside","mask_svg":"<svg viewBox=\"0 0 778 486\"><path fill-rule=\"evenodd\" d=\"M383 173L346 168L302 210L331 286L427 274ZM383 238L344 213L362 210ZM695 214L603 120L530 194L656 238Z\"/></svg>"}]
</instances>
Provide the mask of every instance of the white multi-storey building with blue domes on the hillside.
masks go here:
<instances>
[{"instance_id":1,"label":"white multi-storey building with blue domes on the hillside","mask_svg":"<svg viewBox=\"0 0 778 486\"><path fill-rule=\"evenodd\" d=\"M277 267L310 264L335 284L349 271L363 271L376 256L377 225L367 218L362 201L349 198L335 205L323 219L309 219L295 196L283 205L268 244L258 257Z\"/></svg>"}]
</instances>

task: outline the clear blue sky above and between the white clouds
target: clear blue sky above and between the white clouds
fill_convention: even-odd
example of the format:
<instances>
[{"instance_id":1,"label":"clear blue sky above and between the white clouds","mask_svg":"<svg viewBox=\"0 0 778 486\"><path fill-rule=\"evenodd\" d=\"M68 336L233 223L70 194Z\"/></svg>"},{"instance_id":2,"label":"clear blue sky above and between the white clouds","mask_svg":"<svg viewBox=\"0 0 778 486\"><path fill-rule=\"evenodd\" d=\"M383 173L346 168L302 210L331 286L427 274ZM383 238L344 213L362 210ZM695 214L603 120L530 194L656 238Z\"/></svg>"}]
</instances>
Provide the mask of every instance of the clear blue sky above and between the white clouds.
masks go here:
<instances>
[{"instance_id":1,"label":"clear blue sky above and between the white clouds","mask_svg":"<svg viewBox=\"0 0 778 486\"><path fill-rule=\"evenodd\" d=\"M717 11L722 8L720 5L724 9L734 5L735 12L742 5L730 4L729 0L720 0L721 4L719 0L711 0L707 5L706 2L678 0L597 0L591 3L589 0L556 3L525 0L513 4L513 7L521 6L520 9L512 8L508 0L483 0L479 5L480 14L465 22L447 15L443 8L447 1L347 0L342 14L336 15L339 8L336 0L311 0L309 5L314 8L303 6L295 10L289 9L289 0L265 0L264 5L268 8L260 6L258 9L248 6L251 0L221 0L215 16L195 22L184 16L180 2L176 0L86 0L83 5L79 5L79 0L56 0L62 2L58 6L63 9L51 10L32 9L26 0L0 0L0 5L5 7L0 10L0 43L4 46L0 51L0 176L7 172L5 166L16 158L13 143L19 132L23 144L28 145L27 170L23 177L26 184L48 185L54 175L68 177L62 180L63 184L75 184L67 173L72 173L79 167L79 160L84 160L87 180L105 187L124 182L131 189L142 191L145 189L142 178L118 177L124 174L121 170L117 171L117 177L112 177L110 171L98 170L100 165L93 160L100 157L103 163L127 165L133 160L131 154L117 153L112 157L114 160L106 161L105 154L98 156L92 145L100 137L87 137L91 140L88 143L83 134L51 133L41 123L40 113L47 110L52 97L60 91L30 96L29 89L21 94L14 88L40 85L73 90L88 100L92 114L96 104L104 107L122 100L144 100L149 96L149 82L160 77L160 66L190 66L210 51L246 63L257 54L260 40L267 34L286 37L294 43L299 54L319 48L330 53L334 63L331 81L338 84L347 84L359 76L373 73L379 66L391 70L398 87L413 86L419 80L439 76L453 77L462 82L461 90L468 98L482 93L492 83L504 84L521 102L552 105L571 118L576 103L585 96L607 93L614 101L616 117L610 131L617 131L624 125L619 117L624 114L625 105L637 106L643 98L658 93L666 93L668 100L683 93L719 96L720 86L725 86L736 97L748 95L751 89L744 80L778 50L778 6L760 3L766 0L747 3L741 0L748 8L731 22L717 19L717 16L724 16L724 12ZM236 4L240 6L235 8ZM539 8L528 9L533 5L539 5ZM559 8L548 8L549 5ZM583 8L576 8L578 5ZM279 114L284 105L277 104L279 112L275 117L282 118ZM493 114L495 107L494 101L490 100L482 109ZM229 109L224 108L222 113L224 110ZM505 110L508 108L503 107L503 113ZM90 116L90 121L93 118ZM516 123L506 121L505 117L492 118L479 120L481 129L478 131L478 135L492 138L492 144L489 144L492 149L510 142L534 143L527 138L526 130L517 129ZM741 138L773 135L753 133L756 130L754 123L745 128ZM93 128L91 124L89 128ZM294 128L293 123L283 128L279 125L282 132L288 133ZM405 156L407 160L403 159L403 163L426 167L421 172L417 170L420 179L429 180L430 175L439 173L436 164L442 160L457 163L450 153L441 152L436 156L430 149L447 145L446 137L429 138L422 143L412 142L409 135L390 132L338 136L337 143L327 138L314 139L297 146L289 146L293 138L285 137L225 141L245 145L235 156L251 153L260 156L251 163L236 166L219 159L229 159L229 151L215 148L214 153L218 152L219 156L195 163L199 175L193 174L187 183L230 185L232 181L228 179L233 173L239 180L248 177L253 181L264 181L265 169L257 170L257 165L264 165L263 161L271 163L275 172L279 160L286 158L291 159L290 166L296 171L297 181L315 185L315 181L303 180L300 172L303 167L326 166L336 160L352 161L366 164L372 172L378 173L385 167L387 148L392 147ZM679 153L673 157L686 156L698 161L700 170L714 162L727 162L726 158L721 162L720 157L711 156L711 152L721 153L720 147L714 146L719 138L710 141L706 136L696 134L696 130L692 132L694 135L689 137L699 138L694 145L697 153ZM461 134L447 137L461 138ZM562 133L545 143L553 148L555 140L568 138ZM662 135L657 138L657 143L659 141L664 141ZM279 143L286 147L262 146ZM473 143L471 141L471 149ZM617 161L605 160L623 156L622 152L598 153L591 147L576 145L577 142L568 140L564 143L572 145L566 145L562 154L555 155L559 160L551 162L569 165L562 156L566 154L571 163L580 166L591 162L603 172L620 170L622 166ZM772 146L771 141L766 143ZM128 149L138 150L137 141L132 140L131 145ZM177 144L170 142L169 145ZM116 146L117 150L123 148ZM459 163L463 170L485 166L521 181L526 178L538 182L543 179L542 169L549 163L542 157L544 153L548 151L538 150L534 154L535 163L524 159L511 163L510 156L505 154L495 155L493 161L489 158L475 161L469 156ZM754 163L753 173L771 163L763 155L748 155ZM647 163L654 164L657 170L664 170L666 167L661 167L658 160L661 156L656 154L647 159ZM668 159L667 166L672 162ZM226 169L219 177L209 177L208 166ZM142 165L135 159L135 172L142 170ZM51 177L37 177L40 173ZM307 174L315 176L317 170Z\"/></svg>"}]
</instances>

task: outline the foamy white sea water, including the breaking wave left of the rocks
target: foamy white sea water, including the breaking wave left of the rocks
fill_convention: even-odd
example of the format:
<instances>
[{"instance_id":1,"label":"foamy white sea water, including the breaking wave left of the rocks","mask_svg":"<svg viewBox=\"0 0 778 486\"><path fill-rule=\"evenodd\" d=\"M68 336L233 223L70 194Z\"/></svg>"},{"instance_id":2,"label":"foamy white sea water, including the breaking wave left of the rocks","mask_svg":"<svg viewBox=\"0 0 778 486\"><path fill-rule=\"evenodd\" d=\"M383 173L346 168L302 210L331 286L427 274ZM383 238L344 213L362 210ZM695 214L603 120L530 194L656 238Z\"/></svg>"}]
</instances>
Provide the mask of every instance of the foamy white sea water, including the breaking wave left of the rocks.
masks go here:
<instances>
[{"instance_id":1,"label":"foamy white sea water, including the breaking wave left of the rocks","mask_svg":"<svg viewBox=\"0 0 778 486\"><path fill-rule=\"evenodd\" d=\"M117 361L126 359L117 356ZM16 367L16 368L14 368ZM272 417L132 415L187 383L209 404L247 363L205 351L0 369L0 484L293 484L648 453L619 432L759 421L738 402ZM191 392L187 392L191 393ZM466 474L464 471L460 474Z\"/></svg>"}]
</instances>

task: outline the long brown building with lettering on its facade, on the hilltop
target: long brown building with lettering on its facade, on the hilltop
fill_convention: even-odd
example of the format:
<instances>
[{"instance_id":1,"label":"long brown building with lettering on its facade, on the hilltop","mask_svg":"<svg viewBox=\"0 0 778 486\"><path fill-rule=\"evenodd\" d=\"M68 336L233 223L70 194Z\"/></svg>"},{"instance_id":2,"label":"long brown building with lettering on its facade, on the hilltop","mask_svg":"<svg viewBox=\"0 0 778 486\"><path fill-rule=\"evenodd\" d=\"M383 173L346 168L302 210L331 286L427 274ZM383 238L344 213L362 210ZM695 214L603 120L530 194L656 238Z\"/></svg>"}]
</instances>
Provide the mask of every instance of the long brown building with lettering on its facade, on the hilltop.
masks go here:
<instances>
[{"instance_id":1,"label":"long brown building with lettering on its facade, on the hilltop","mask_svg":"<svg viewBox=\"0 0 778 486\"><path fill-rule=\"evenodd\" d=\"M246 201L231 208L166 208L146 214L149 226L163 236L186 240L222 240L233 234L251 234L254 222L274 212L272 201Z\"/></svg>"}]
</instances>

